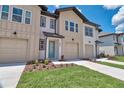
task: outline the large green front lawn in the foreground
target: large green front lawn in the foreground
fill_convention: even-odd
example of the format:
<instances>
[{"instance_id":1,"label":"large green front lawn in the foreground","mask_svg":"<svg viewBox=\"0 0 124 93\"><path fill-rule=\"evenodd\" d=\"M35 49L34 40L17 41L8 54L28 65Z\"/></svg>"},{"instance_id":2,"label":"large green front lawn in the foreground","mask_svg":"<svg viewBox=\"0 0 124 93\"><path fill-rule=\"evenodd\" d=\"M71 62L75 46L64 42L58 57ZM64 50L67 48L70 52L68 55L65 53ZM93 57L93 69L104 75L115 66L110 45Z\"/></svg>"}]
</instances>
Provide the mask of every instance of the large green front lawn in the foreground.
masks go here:
<instances>
[{"instance_id":1,"label":"large green front lawn in the foreground","mask_svg":"<svg viewBox=\"0 0 124 93\"><path fill-rule=\"evenodd\" d=\"M98 73L83 66L23 73L18 88L114 88L124 81Z\"/></svg>"}]
</instances>

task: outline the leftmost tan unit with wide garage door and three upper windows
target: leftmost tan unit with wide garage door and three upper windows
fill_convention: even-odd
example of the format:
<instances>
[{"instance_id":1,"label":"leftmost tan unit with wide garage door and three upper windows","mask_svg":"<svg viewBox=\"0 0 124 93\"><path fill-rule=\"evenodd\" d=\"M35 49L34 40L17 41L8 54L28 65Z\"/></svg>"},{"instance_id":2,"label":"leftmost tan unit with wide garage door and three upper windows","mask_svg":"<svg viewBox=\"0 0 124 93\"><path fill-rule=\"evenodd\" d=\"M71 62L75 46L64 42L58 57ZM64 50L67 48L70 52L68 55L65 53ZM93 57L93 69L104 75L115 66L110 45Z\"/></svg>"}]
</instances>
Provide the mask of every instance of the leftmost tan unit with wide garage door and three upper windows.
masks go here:
<instances>
[{"instance_id":1,"label":"leftmost tan unit with wide garage door and three upper windows","mask_svg":"<svg viewBox=\"0 0 124 93\"><path fill-rule=\"evenodd\" d=\"M38 59L39 6L0 5L0 63Z\"/></svg>"}]
</instances>

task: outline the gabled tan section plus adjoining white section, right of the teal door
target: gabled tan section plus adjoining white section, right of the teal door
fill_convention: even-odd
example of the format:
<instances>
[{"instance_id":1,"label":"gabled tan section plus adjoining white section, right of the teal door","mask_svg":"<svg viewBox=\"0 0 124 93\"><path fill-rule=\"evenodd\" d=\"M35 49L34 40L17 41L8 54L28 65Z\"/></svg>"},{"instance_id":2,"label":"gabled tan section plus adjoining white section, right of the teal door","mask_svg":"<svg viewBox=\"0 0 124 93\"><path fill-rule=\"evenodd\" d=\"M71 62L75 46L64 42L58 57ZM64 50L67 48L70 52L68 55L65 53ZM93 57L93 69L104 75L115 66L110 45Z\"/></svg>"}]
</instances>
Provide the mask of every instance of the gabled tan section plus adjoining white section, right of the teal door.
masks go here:
<instances>
[{"instance_id":1,"label":"gabled tan section plus adjoining white section, right of the teal door","mask_svg":"<svg viewBox=\"0 0 124 93\"><path fill-rule=\"evenodd\" d=\"M75 7L60 8L58 34L63 35L61 54L65 59L96 57L99 25L90 22Z\"/></svg>"}]
</instances>

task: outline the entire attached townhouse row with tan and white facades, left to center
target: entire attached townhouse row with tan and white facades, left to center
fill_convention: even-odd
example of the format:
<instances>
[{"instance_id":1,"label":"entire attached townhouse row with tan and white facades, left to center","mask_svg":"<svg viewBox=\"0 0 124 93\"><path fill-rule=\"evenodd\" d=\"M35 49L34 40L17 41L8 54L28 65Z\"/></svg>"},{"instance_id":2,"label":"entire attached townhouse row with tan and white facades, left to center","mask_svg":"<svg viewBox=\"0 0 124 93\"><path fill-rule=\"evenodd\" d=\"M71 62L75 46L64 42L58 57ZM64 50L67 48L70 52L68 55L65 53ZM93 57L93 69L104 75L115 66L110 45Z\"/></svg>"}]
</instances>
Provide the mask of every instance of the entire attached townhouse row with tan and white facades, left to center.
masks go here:
<instances>
[{"instance_id":1,"label":"entire attached townhouse row with tan and white facades, left to center","mask_svg":"<svg viewBox=\"0 0 124 93\"><path fill-rule=\"evenodd\" d=\"M99 27L75 7L0 5L0 63L96 57Z\"/></svg>"}]
</instances>

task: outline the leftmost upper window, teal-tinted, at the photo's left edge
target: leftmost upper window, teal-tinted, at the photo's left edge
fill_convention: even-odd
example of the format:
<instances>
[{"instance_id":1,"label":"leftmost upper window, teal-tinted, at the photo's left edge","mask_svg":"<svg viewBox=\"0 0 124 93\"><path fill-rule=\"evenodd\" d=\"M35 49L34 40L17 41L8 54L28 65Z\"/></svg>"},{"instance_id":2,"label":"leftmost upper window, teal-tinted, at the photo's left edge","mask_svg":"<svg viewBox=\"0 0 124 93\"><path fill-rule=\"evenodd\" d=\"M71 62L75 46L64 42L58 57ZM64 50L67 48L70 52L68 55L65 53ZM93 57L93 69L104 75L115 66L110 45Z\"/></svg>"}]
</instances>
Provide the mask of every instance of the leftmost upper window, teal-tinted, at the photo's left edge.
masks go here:
<instances>
[{"instance_id":1,"label":"leftmost upper window, teal-tinted, at the photo's left edge","mask_svg":"<svg viewBox=\"0 0 124 93\"><path fill-rule=\"evenodd\" d=\"M8 20L8 16L9 16L9 6L3 5L2 12L1 12L1 19Z\"/></svg>"}]
</instances>

